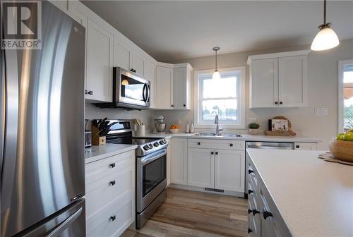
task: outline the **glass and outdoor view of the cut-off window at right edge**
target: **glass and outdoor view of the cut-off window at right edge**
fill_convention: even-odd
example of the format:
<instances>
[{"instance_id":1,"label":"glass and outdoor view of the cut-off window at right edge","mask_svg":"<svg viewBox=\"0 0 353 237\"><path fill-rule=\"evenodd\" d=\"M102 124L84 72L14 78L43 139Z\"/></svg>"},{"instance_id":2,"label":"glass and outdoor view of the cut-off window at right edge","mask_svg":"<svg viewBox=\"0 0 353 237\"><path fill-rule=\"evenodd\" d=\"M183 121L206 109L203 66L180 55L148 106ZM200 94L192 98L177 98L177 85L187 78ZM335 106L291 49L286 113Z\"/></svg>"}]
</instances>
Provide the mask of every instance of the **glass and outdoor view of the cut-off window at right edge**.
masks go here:
<instances>
[{"instance_id":1,"label":"glass and outdoor view of the cut-off window at right edge","mask_svg":"<svg viewBox=\"0 0 353 237\"><path fill-rule=\"evenodd\" d=\"M344 83L344 128L349 130L353 128L353 65L347 65L343 71Z\"/></svg>"}]
</instances>

